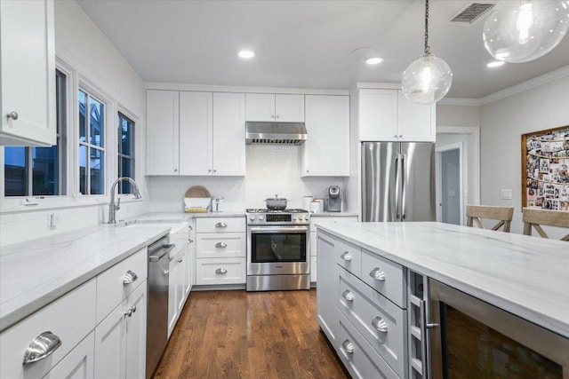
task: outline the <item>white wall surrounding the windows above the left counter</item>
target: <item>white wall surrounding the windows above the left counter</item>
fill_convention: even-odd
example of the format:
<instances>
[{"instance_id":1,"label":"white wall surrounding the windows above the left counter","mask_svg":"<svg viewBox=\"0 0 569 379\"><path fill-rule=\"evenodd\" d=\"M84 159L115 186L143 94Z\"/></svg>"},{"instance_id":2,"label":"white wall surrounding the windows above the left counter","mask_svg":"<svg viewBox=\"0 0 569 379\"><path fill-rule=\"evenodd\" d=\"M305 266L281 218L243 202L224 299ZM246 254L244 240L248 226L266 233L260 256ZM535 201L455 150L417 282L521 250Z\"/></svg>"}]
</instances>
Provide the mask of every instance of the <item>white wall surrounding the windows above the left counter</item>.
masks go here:
<instances>
[{"instance_id":1,"label":"white wall surrounding the windows above the left counter","mask_svg":"<svg viewBox=\"0 0 569 379\"><path fill-rule=\"evenodd\" d=\"M79 76L105 91L121 109L137 118L137 146L142 148L137 156L136 170L143 173L145 103L144 83L140 76L75 1L55 2L55 49L56 55L77 70ZM147 191L143 180L140 182L144 195ZM17 205L8 209L3 203L0 207L0 246L98 225L106 218L108 198L87 203L69 199L60 204L61 207L53 208L40 203L32 209L21 207L20 210ZM142 212L145 203L123 202L121 206L117 218ZM56 227L48 227L47 218L51 213L58 218Z\"/></svg>"}]
</instances>

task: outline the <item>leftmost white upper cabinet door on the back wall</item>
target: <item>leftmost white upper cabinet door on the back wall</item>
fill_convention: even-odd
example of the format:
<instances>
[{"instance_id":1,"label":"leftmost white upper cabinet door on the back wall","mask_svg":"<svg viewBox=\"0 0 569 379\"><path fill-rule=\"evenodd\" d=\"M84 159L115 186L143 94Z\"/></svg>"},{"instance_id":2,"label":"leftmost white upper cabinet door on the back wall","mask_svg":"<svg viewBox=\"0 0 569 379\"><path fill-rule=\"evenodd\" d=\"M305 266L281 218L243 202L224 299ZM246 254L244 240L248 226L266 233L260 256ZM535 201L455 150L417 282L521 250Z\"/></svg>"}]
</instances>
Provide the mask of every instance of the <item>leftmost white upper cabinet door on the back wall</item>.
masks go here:
<instances>
[{"instance_id":1,"label":"leftmost white upper cabinet door on the back wall","mask_svg":"<svg viewBox=\"0 0 569 379\"><path fill-rule=\"evenodd\" d=\"M179 175L178 91L146 92L146 174Z\"/></svg>"}]
</instances>

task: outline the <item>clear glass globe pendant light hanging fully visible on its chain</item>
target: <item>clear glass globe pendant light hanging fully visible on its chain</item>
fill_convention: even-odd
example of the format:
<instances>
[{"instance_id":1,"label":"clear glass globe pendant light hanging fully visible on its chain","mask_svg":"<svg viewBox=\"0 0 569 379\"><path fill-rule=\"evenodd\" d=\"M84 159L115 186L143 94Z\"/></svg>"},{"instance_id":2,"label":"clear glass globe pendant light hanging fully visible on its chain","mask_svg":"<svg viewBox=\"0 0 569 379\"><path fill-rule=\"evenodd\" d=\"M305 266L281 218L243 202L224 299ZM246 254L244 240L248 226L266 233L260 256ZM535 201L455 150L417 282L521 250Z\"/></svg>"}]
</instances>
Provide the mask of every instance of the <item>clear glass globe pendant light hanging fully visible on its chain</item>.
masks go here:
<instances>
[{"instance_id":1,"label":"clear glass globe pendant light hanging fully visible on its chain","mask_svg":"<svg viewBox=\"0 0 569 379\"><path fill-rule=\"evenodd\" d=\"M403 73L403 94L417 104L433 104L443 99L453 83L453 71L445 60L429 49L429 0L425 0L425 51Z\"/></svg>"}]
</instances>

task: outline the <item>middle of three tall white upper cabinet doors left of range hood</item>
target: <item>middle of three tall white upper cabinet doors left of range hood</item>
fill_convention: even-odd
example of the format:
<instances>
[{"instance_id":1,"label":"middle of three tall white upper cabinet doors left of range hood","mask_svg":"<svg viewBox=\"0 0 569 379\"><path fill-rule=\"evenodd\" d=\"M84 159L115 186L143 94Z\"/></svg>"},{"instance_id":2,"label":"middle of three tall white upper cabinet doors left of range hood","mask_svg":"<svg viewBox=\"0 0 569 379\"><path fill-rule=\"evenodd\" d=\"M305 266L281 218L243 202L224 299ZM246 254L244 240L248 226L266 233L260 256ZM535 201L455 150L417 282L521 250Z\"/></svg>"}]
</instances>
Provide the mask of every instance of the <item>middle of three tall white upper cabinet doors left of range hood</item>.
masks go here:
<instances>
[{"instance_id":1,"label":"middle of three tall white upper cabinet doors left of range hood","mask_svg":"<svg viewBox=\"0 0 569 379\"><path fill-rule=\"evenodd\" d=\"M210 175L212 92L180 92L180 175Z\"/></svg>"}]
</instances>

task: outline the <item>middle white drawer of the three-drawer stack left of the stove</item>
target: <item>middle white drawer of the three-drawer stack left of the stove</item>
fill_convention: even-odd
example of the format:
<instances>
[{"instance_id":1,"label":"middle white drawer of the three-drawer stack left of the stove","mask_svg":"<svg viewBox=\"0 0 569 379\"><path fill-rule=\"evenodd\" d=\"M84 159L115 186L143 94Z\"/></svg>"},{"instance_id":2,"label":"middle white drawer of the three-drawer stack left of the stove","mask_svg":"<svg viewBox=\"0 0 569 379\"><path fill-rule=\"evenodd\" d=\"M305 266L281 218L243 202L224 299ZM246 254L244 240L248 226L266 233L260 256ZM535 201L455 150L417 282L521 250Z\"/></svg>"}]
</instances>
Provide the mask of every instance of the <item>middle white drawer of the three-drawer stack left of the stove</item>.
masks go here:
<instances>
[{"instance_id":1,"label":"middle white drawer of the three-drawer stack left of the stove","mask_svg":"<svg viewBox=\"0 0 569 379\"><path fill-rule=\"evenodd\" d=\"M198 258L246 257L245 233L199 233L196 243Z\"/></svg>"}]
</instances>

